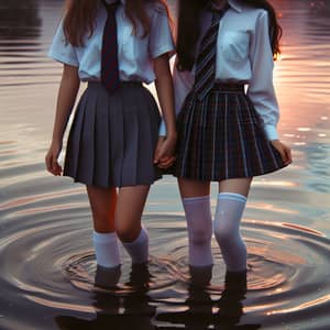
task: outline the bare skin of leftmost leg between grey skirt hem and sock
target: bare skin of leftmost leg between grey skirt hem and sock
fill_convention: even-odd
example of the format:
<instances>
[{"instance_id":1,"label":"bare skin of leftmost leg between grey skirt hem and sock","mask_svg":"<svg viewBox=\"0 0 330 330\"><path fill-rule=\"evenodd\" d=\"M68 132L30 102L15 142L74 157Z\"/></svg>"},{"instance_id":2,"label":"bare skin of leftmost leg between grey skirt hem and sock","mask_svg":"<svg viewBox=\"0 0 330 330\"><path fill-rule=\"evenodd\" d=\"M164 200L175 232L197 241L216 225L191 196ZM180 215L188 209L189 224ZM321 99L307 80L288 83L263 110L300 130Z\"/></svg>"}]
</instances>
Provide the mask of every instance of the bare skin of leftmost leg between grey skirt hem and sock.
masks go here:
<instances>
[{"instance_id":1,"label":"bare skin of leftmost leg between grey skirt hem and sock","mask_svg":"<svg viewBox=\"0 0 330 330\"><path fill-rule=\"evenodd\" d=\"M101 233L113 232L117 189L96 186L87 186L86 188L95 230Z\"/></svg>"}]
</instances>

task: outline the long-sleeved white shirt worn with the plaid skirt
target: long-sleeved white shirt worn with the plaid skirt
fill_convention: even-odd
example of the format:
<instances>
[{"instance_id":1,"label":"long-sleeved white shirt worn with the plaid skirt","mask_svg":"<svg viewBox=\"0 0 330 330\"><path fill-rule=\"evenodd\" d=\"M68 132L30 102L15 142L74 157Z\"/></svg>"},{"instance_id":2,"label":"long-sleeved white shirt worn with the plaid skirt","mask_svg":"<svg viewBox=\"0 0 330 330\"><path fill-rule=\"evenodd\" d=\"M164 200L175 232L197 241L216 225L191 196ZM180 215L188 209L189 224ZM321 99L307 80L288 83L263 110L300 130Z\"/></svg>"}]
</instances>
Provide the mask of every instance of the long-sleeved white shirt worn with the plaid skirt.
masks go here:
<instances>
[{"instance_id":1,"label":"long-sleeved white shirt worn with the plaid skirt","mask_svg":"<svg viewBox=\"0 0 330 330\"><path fill-rule=\"evenodd\" d=\"M273 53L268 34L268 14L264 9L244 6L244 1L229 0L229 10L219 24L216 80L248 85L248 96L260 114L268 140L278 139L279 118L273 85ZM211 12L201 15L201 37L211 24ZM197 47L198 48L198 47ZM182 105L195 82L195 69L178 72L174 67L175 108ZM165 127L162 123L162 134Z\"/></svg>"}]
</instances>

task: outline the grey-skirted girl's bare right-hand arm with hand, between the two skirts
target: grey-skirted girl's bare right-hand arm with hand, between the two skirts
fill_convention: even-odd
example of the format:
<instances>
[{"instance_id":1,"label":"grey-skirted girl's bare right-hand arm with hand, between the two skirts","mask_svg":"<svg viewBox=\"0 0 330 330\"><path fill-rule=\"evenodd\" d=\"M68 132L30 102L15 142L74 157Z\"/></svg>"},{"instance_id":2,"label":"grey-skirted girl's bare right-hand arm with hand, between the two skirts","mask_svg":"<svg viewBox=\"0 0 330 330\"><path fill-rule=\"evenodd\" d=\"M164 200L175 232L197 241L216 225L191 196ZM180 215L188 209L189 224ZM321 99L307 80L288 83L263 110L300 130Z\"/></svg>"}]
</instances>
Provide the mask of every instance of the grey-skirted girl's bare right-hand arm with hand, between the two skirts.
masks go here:
<instances>
[{"instance_id":1,"label":"grey-skirted girl's bare right-hand arm with hand, between the two skirts","mask_svg":"<svg viewBox=\"0 0 330 330\"><path fill-rule=\"evenodd\" d=\"M174 90L173 80L168 64L168 54L164 54L154 59L156 75L155 86L166 125L166 136L160 136L155 152L155 164L161 162L161 167L168 167L174 161L176 144L176 119L174 112Z\"/></svg>"}]
</instances>

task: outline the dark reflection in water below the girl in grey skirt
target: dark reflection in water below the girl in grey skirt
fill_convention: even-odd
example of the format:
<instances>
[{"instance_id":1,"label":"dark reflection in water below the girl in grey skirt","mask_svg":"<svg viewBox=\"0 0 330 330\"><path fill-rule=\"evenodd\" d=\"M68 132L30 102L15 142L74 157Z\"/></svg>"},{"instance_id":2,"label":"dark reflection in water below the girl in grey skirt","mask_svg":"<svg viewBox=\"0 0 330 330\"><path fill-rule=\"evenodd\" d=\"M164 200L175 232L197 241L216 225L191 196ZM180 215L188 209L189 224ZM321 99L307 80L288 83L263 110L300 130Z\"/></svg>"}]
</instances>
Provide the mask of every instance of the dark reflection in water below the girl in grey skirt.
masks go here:
<instances>
[{"instance_id":1,"label":"dark reflection in water below the girl in grey skirt","mask_svg":"<svg viewBox=\"0 0 330 330\"><path fill-rule=\"evenodd\" d=\"M147 265L134 265L131 270L125 295L116 292L102 292L102 288L116 288L120 278L120 268L111 271L97 270L96 289L92 294L92 306L96 310L94 319L84 319L70 316L57 316L56 323L59 329L154 329L151 319L155 316L156 307L151 306L147 295L151 274Z\"/></svg>"}]
</instances>

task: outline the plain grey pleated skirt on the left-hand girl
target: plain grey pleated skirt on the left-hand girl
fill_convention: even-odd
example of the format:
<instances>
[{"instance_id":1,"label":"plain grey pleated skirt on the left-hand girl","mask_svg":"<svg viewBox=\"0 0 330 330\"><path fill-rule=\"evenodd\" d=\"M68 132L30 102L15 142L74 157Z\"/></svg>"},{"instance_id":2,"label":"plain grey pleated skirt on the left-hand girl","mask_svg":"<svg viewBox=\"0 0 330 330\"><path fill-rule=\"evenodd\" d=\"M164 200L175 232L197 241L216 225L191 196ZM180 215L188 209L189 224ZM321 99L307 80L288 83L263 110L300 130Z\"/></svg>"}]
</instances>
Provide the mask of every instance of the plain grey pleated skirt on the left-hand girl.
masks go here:
<instances>
[{"instance_id":1,"label":"plain grey pleated skirt on the left-hand girl","mask_svg":"<svg viewBox=\"0 0 330 330\"><path fill-rule=\"evenodd\" d=\"M109 94L89 82L70 129L64 175L87 186L151 185L161 178L153 164L161 117L140 82L122 82Z\"/></svg>"}]
</instances>

